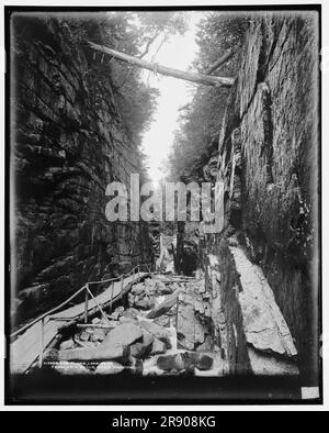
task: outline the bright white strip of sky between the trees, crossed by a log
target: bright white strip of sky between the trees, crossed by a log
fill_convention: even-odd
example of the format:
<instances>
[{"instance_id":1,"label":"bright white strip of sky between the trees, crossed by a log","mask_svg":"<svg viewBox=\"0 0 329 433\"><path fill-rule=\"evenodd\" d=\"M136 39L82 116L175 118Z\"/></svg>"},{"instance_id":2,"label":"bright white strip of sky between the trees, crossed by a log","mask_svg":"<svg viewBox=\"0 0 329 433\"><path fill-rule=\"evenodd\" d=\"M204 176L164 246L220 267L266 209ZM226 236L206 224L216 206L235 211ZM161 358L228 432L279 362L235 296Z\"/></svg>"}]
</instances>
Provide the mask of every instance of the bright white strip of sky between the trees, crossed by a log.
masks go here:
<instances>
[{"instance_id":1,"label":"bright white strip of sky between the trees, crossed by a log","mask_svg":"<svg viewBox=\"0 0 329 433\"><path fill-rule=\"evenodd\" d=\"M186 15L189 19L188 32L183 36L171 36L162 45L156 57L158 64L182 70L190 69L197 53L195 32L203 12L186 12ZM151 60L152 54L150 53L146 58ZM158 182L163 176L161 166L169 155L174 131L178 129L179 108L191 100L197 85L148 71L143 74L143 79L151 87L158 88L160 92L154 122L144 134L143 140L143 149L148 156L149 176L154 182Z\"/></svg>"}]
</instances>

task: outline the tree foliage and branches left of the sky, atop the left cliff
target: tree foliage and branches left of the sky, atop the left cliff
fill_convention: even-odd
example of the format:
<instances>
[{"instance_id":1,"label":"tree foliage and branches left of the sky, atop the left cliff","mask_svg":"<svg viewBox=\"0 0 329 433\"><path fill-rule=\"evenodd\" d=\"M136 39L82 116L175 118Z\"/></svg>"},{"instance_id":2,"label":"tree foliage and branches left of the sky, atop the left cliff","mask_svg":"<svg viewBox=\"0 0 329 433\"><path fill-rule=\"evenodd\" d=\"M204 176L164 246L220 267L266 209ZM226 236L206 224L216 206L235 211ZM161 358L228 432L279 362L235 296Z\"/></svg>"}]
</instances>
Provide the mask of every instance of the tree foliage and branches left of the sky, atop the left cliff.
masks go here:
<instances>
[{"instance_id":1,"label":"tree foliage and branches left of the sky, atop the left cliff","mask_svg":"<svg viewBox=\"0 0 329 433\"><path fill-rule=\"evenodd\" d=\"M102 92L105 81L111 81L126 133L145 162L146 156L140 151L140 143L144 132L152 121L158 90L141 80L140 69L117 62L109 55L92 52L86 42L92 41L144 57L159 38L163 41L171 34L184 33L184 15L180 12L125 11L93 14L88 19L65 18L61 21L70 33L71 49L83 47L86 52L88 77L94 80L95 93Z\"/></svg>"}]
</instances>

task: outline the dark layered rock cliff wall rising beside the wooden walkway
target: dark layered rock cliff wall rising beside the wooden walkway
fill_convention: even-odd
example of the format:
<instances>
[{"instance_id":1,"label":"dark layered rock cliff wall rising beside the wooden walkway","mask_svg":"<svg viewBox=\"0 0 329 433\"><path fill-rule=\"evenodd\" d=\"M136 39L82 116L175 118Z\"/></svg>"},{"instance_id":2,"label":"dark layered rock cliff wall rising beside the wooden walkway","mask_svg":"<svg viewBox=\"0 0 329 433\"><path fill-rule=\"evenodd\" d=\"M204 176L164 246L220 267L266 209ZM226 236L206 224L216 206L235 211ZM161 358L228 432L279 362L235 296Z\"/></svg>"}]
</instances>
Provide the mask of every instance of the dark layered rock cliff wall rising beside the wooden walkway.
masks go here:
<instances>
[{"instance_id":1,"label":"dark layered rock cliff wall rising beside the wooden walkway","mask_svg":"<svg viewBox=\"0 0 329 433\"><path fill-rule=\"evenodd\" d=\"M150 262L143 223L105 218L105 188L140 173L109 67L61 20L12 20L12 284L15 320L89 280ZM111 73L111 69L110 69ZM100 79L102 76L102 79Z\"/></svg>"}]
</instances>

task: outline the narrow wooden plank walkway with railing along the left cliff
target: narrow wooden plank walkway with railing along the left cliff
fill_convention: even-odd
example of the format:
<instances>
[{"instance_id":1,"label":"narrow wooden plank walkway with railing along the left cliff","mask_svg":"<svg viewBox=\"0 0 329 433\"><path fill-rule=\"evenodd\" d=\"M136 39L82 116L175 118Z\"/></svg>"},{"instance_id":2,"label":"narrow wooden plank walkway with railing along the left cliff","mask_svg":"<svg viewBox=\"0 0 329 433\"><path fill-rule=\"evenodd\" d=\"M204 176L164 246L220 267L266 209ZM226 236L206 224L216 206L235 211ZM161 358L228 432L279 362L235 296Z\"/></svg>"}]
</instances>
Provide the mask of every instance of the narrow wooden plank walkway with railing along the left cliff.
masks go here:
<instances>
[{"instance_id":1,"label":"narrow wooden plank walkway with railing along the left cliff","mask_svg":"<svg viewBox=\"0 0 329 433\"><path fill-rule=\"evenodd\" d=\"M144 279L148 273L139 273L139 277L137 275L131 275L122 281L114 281L113 285L113 301L115 301L121 295L122 291L131 282L138 282ZM95 297L97 302L100 306L105 306L111 302L112 299L112 285L107 289L105 289L102 293ZM88 302L88 311L94 310L97 304L93 299L89 299ZM59 311L52 317L57 318L79 318L84 313L84 302L79 303L75 307L70 307L64 311ZM44 332L43 332L43 347L46 348L55 336L58 333L58 327L63 325L63 321L57 320L45 320L44 322ZM38 358L41 353L41 342L42 342L42 321L36 322L34 325L29 327L22 335L20 335L11 345L10 345L10 370L12 374L24 373L26 371L31 365Z\"/></svg>"}]
</instances>

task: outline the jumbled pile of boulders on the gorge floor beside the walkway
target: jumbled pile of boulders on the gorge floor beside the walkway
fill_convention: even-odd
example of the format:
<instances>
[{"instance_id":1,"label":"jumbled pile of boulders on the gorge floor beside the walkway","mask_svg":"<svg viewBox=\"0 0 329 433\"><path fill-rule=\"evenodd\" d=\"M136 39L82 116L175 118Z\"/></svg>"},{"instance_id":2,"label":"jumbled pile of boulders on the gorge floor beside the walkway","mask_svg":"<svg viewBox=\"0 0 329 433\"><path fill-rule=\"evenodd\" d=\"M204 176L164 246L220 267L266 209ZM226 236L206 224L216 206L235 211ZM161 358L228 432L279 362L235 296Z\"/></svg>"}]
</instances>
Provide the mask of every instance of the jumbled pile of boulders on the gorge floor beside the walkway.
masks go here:
<instances>
[{"instance_id":1,"label":"jumbled pile of boulders on the gorge floor beside the walkway","mask_svg":"<svg viewBox=\"0 0 329 433\"><path fill-rule=\"evenodd\" d=\"M206 331L195 315L204 311L194 308L198 289L200 285L194 287L192 282L188 288L186 282L148 278L133 286L128 308L117 307L106 319L94 318L89 325L77 325L75 334L46 358L60 362L55 368L61 374L81 374L81 369L84 374L129 369L145 375L152 374L152 368L157 374L211 369L212 356L184 352L202 345L208 349Z\"/></svg>"}]
</instances>

